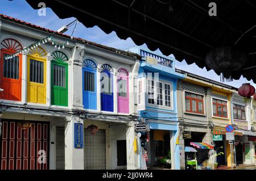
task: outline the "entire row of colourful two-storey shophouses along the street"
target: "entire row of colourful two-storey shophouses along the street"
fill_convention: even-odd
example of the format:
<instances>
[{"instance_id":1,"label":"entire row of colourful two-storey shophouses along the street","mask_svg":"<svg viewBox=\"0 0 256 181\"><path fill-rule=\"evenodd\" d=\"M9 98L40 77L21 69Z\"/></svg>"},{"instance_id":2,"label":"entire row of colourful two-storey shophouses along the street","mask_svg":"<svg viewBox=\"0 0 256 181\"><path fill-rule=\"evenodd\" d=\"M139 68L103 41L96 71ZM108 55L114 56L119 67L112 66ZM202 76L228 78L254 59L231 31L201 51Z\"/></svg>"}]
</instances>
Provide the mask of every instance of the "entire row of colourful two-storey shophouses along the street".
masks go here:
<instances>
[{"instance_id":1,"label":"entire row of colourful two-storey shophouses along the street","mask_svg":"<svg viewBox=\"0 0 256 181\"><path fill-rule=\"evenodd\" d=\"M0 52L1 170L142 169L142 159L153 167L167 155L179 170L191 142L221 148L218 165L255 163L256 100L175 69L174 56L105 47L5 15ZM147 124L141 136L139 123Z\"/></svg>"}]
</instances>

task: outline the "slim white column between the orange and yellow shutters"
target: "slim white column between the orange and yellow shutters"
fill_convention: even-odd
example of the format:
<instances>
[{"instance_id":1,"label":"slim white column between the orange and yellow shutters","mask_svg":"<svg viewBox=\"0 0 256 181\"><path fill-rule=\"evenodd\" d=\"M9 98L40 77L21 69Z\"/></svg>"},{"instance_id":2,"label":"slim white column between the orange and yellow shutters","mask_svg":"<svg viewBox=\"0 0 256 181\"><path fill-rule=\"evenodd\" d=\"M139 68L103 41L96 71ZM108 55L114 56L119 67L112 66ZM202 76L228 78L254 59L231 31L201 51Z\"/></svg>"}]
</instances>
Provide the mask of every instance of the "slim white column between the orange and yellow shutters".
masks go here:
<instances>
[{"instance_id":1,"label":"slim white column between the orange and yellow shutters","mask_svg":"<svg viewBox=\"0 0 256 181\"><path fill-rule=\"evenodd\" d=\"M27 55L28 51L22 53L22 104L27 103Z\"/></svg>"}]
</instances>

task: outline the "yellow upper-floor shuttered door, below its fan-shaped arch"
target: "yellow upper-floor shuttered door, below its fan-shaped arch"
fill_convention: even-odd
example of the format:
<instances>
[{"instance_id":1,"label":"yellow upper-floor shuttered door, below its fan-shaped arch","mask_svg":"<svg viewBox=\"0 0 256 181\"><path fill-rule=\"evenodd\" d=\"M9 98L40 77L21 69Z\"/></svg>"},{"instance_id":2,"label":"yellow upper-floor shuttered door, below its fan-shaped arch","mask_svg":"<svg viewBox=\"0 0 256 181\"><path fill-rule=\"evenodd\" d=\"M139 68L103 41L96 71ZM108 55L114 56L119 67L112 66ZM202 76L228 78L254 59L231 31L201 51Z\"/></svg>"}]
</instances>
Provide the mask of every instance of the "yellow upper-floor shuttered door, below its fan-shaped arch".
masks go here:
<instances>
[{"instance_id":1,"label":"yellow upper-floor shuttered door, below its fan-shaped arch","mask_svg":"<svg viewBox=\"0 0 256 181\"><path fill-rule=\"evenodd\" d=\"M46 104L46 58L28 56L27 102Z\"/></svg>"}]
</instances>

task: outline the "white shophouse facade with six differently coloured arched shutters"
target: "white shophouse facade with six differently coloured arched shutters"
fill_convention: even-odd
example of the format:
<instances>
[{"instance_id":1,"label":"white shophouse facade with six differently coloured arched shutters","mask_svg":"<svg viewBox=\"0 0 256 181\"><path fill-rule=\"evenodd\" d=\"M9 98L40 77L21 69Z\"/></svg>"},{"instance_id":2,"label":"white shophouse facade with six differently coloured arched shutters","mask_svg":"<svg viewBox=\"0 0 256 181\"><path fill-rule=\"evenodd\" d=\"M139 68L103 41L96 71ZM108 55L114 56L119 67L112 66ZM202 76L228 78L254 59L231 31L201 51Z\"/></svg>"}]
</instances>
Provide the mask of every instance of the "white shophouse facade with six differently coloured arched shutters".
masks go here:
<instances>
[{"instance_id":1,"label":"white shophouse facade with six differently coloured arched shutters","mask_svg":"<svg viewBox=\"0 0 256 181\"><path fill-rule=\"evenodd\" d=\"M44 28L1 15L0 51L8 52L8 47L6 48L6 44L4 44L5 41L15 42L22 48L26 48L52 33L52 31ZM70 37L64 35L53 35L53 38L59 45L67 41L69 44L65 45L65 49L54 48L52 42L40 44L39 48L43 54L38 52L38 54L32 54L31 49L24 51L19 56L19 63L15 64L15 66L20 66L19 70L21 71L19 77L20 98L11 100L13 98L6 92L4 92L3 102L1 98L3 124L0 136L0 169L138 169L139 153L133 149L134 139L137 138L134 132L134 124L137 123L134 118L137 115L137 107L134 104L133 94L134 80L137 77L133 73L138 72L138 55L89 43L81 39L71 40ZM63 63L67 67L64 71L67 76L63 80L66 81L67 89L63 89L63 91L67 94L65 97L67 100L64 100L65 95L60 96L60 98L52 96L57 91L56 85L53 83L57 79L52 77L57 73L52 65L55 61L54 52L56 50L59 50L60 54L64 54L66 58ZM1 64L5 62L6 65L3 56L5 56L4 53L1 53ZM13 62L15 61L13 60ZM31 83L33 81L31 76L33 75L29 74L29 71L32 70L31 62L33 61L38 61L39 63L36 65L44 72L42 77L39 77L39 79L43 79L43 83L41 82L42 91L40 91L40 83ZM88 65L85 64L86 62L93 62L96 65L95 77L94 79L90 77L95 82L94 91L96 94L93 100L96 101L96 104L94 104L94 109L86 108L84 103L86 93L84 90L88 87L85 88L87 79L83 76L92 73L88 71L89 73L86 74L83 71ZM3 69L6 67L4 65L0 67L0 72L3 72L1 76L5 77ZM110 68L107 82L102 79L102 73L105 73L104 68ZM35 69L39 70L37 66ZM120 78L120 73L123 71L127 73L125 74L126 77ZM129 85L125 88L126 94L123 93L125 92L123 91L124 88L122 86L120 88L121 83L119 82ZM31 85L38 86L35 89L39 91L33 92L34 88L31 88ZM92 89L92 85L88 85ZM103 111L108 110L109 106L109 104L106 104L105 107L102 105L108 103L104 102L102 97L108 98L109 94L101 94L102 90L106 91L106 87L109 87L110 93L112 92L113 106L111 106L112 110L110 111ZM3 89L3 87L1 88ZM10 87L9 91L16 91L12 89ZM4 91L6 90L7 88L4 89ZM118 94L120 92L118 90L123 92ZM62 91L62 89L58 91ZM126 99L121 99L121 96ZM120 103L123 103L122 100L127 103L125 108L119 106ZM65 106L52 104L56 102L61 104L61 101L64 101ZM32 125L28 131L21 131L17 126L20 121L24 120L30 121ZM81 123L84 128L82 148L75 148L74 146L75 123ZM98 127L95 135L92 135L88 130L88 126L92 124ZM46 151L46 163L39 164L37 162L40 157L40 154L38 155L40 149ZM19 150L23 151L19 152ZM123 154L123 151L126 154Z\"/></svg>"}]
</instances>

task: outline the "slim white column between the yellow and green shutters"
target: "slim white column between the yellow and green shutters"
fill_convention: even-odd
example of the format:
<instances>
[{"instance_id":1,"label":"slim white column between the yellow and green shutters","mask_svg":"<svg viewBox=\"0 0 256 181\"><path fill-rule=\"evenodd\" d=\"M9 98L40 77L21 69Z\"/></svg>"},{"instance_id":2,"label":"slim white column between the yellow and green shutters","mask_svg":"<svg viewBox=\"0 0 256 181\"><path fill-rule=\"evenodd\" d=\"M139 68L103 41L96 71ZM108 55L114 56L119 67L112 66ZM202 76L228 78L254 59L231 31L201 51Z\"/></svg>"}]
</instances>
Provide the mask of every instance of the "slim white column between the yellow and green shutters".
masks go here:
<instances>
[{"instance_id":1,"label":"slim white column between the yellow and green shutters","mask_svg":"<svg viewBox=\"0 0 256 181\"><path fill-rule=\"evenodd\" d=\"M51 63L52 63L52 56L47 56L47 61L46 61L46 106L50 107L51 106Z\"/></svg>"}]
</instances>

